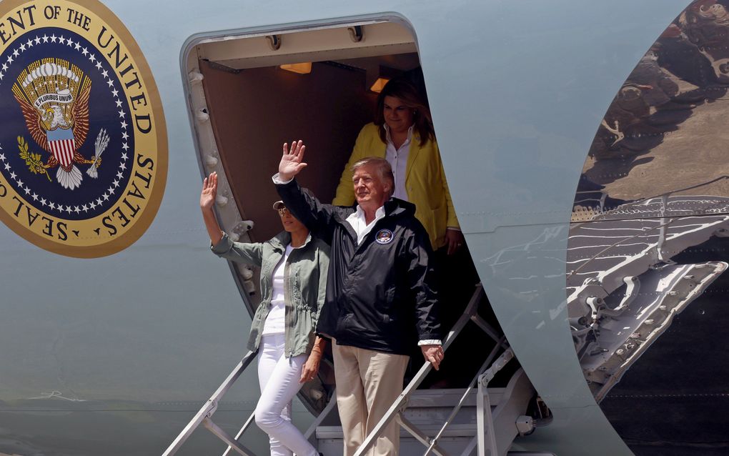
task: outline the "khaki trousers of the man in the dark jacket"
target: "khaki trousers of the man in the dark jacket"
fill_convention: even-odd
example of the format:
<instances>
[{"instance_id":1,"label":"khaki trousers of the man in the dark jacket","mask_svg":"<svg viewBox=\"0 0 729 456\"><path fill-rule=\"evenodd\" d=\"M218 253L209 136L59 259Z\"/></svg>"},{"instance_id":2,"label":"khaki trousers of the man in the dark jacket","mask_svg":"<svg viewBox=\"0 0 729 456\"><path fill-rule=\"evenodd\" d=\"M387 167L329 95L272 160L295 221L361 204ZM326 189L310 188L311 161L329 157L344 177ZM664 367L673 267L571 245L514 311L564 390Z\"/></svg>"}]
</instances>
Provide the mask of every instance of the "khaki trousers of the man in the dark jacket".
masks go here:
<instances>
[{"instance_id":1,"label":"khaki trousers of the man in the dark jacket","mask_svg":"<svg viewBox=\"0 0 729 456\"><path fill-rule=\"evenodd\" d=\"M410 357L336 343L332 351L344 456L352 456L402 393ZM399 425L392 420L367 455L397 455L399 441Z\"/></svg>"}]
</instances>

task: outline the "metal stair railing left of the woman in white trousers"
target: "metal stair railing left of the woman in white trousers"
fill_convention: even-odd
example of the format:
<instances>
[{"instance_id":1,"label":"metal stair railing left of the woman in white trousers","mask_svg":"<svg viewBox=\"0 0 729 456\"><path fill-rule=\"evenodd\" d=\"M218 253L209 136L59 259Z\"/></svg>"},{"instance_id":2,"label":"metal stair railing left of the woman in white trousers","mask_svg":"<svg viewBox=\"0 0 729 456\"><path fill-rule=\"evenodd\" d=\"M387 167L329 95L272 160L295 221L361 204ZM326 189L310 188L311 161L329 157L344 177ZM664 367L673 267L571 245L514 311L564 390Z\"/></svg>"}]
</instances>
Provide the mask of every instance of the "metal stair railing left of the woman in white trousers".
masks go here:
<instances>
[{"instance_id":1,"label":"metal stair railing left of the woman in white trousers","mask_svg":"<svg viewBox=\"0 0 729 456\"><path fill-rule=\"evenodd\" d=\"M233 371L228 374L227 378L225 379L222 384L218 387L218 389L211 395L211 397L206 401L206 403L203 404L202 407L200 407L200 410L198 410L198 413L195 414L195 417L192 417L192 420L190 420L189 423L187 423L187 426L184 427L181 433L177 436L177 438L174 439L172 444L165 450L165 452L162 454L162 456L171 456L174 455L184 444L184 442L189 438L192 433L195 431L195 429L198 428L200 424L205 426L208 430L210 430L211 433L214 433L215 436L217 436L220 440L224 441L226 444L228 444L227 450L225 450L224 455L228 455L231 450L235 450L235 452L238 452L239 454L243 456L254 456L254 453L247 449L246 447L243 447L243 445L238 442L238 439L241 438L243 433L246 431L247 428L251 425L251 423L254 420L255 414L251 414L251 416L246 420L246 423L243 425L243 428L241 428L240 431L238 431L238 434L235 436L235 438L230 437L225 430L222 430L218 425L216 425L213 420L211 420L211 417L215 413L215 411L218 408L218 403L220 401L220 398L222 398L225 393L227 393L227 390L230 390L230 387L233 386L233 383L235 383L235 380L238 379L238 377L243 374L243 371L246 370L246 368L250 365L252 360L256 357L256 352L248 352L245 356L243 356L243 359L241 359L241 362L238 363L238 366L235 366Z\"/></svg>"}]
</instances>

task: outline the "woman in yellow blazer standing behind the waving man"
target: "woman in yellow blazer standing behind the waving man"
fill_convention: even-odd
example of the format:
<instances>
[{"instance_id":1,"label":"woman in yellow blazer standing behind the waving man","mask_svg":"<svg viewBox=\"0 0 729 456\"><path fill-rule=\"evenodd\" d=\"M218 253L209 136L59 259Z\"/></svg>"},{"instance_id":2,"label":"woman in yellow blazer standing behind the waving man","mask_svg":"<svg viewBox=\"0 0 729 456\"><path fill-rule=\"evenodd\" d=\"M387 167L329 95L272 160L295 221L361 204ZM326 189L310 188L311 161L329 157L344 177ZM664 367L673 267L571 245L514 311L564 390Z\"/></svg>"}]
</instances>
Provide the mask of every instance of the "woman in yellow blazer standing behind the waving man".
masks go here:
<instances>
[{"instance_id":1,"label":"woman in yellow blazer standing behind the waving man","mask_svg":"<svg viewBox=\"0 0 729 456\"><path fill-rule=\"evenodd\" d=\"M354 204L351 166L365 157L386 158L395 177L395 194L416 205L416 217L434 250L448 254L463 245L430 114L413 85L397 78L378 97L375 121L364 125L342 173L332 204Z\"/></svg>"}]
</instances>

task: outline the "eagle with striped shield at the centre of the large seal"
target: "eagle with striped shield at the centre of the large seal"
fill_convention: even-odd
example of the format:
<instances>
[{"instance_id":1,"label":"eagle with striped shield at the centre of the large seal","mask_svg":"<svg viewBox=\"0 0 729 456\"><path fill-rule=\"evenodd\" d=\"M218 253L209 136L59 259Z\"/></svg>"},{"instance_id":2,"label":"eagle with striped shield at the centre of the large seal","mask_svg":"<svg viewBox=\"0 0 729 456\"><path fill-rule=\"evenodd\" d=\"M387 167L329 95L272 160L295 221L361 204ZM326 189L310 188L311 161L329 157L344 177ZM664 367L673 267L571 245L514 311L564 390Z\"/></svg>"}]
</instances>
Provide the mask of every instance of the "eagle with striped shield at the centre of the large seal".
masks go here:
<instances>
[{"instance_id":1,"label":"eagle with striped shield at the centre of the large seal","mask_svg":"<svg viewBox=\"0 0 729 456\"><path fill-rule=\"evenodd\" d=\"M48 176L47 170L58 167L55 177L69 190L80 187L83 180L76 163L90 164L87 174L98 176L96 169L101 165L101 152L109 144L106 131L99 132L91 160L79 153L89 131L90 78L69 61L44 58L20 72L12 93L23 111L31 138L50 152L43 163L39 155L29 154L27 144L19 139L21 154L25 153L31 171Z\"/></svg>"}]
</instances>

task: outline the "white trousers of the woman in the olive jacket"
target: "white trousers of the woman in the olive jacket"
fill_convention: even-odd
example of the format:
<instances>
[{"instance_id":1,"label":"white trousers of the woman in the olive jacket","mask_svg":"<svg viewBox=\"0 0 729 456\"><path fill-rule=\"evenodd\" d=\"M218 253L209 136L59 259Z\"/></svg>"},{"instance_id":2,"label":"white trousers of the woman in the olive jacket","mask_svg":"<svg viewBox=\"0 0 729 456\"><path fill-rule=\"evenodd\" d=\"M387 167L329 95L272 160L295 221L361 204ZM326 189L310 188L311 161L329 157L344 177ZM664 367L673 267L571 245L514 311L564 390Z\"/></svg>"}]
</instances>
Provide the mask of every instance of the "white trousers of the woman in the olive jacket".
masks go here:
<instances>
[{"instance_id":1,"label":"white trousers of the woman in the olive jacket","mask_svg":"<svg viewBox=\"0 0 729 456\"><path fill-rule=\"evenodd\" d=\"M268 434L271 456L319 456L316 449L291 423L291 402L301 388L299 379L306 355L286 358L284 334L263 336L258 353L261 398L256 424Z\"/></svg>"}]
</instances>

